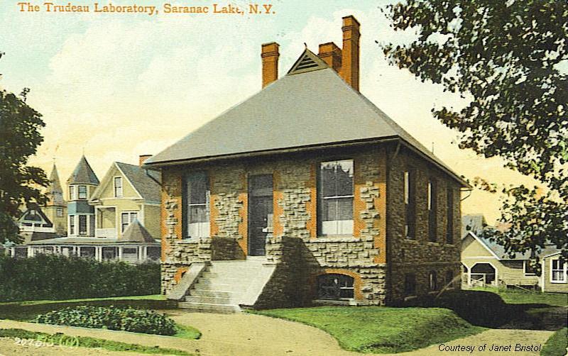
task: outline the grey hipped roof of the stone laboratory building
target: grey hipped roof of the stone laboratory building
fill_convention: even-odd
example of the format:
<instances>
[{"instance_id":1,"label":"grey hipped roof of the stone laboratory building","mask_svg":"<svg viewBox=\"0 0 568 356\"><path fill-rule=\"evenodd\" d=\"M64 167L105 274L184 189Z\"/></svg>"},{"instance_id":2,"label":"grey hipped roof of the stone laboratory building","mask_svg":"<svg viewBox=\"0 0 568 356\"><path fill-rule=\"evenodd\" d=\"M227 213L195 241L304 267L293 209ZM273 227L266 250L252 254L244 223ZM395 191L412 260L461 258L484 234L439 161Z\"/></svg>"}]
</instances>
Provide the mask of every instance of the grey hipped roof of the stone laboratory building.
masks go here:
<instances>
[{"instance_id":1,"label":"grey hipped roof of the stone laboratory building","mask_svg":"<svg viewBox=\"0 0 568 356\"><path fill-rule=\"evenodd\" d=\"M145 164L387 138L402 139L466 185L430 150L329 67L290 73L278 79Z\"/></svg>"}]
</instances>

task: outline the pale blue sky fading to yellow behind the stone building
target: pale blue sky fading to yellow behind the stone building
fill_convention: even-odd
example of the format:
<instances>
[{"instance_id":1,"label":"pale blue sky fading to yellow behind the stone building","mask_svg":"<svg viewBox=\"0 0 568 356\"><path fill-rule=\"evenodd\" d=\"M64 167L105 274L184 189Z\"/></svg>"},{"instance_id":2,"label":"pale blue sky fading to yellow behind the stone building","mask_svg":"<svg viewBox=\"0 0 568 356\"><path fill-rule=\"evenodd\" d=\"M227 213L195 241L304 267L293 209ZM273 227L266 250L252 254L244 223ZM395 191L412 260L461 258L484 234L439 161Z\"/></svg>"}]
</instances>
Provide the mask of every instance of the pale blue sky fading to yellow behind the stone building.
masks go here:
<instances>
[{"instance_id":1,"label":"pale blue sky fading to yellow behind the stone building","mask_svg":"<svg viewBox=\"0 0 568 356\"><path fill-rule=\"evenodd\" d=\"M341 46L342 16L361 22L361 92L458 174L495 182L529 182L452 143L457 133L435 121L432 107L464 101L391 67L376 45L403 43L378 7L388 1L266 1L271 16L21 13L0 3L0 87L31 88L28 104L43 113L45 143L31 162L50 169L56 157L65 182L82 150L99 177L111 162L136 163L157 153L261 89L261 43L280 43L280 75L304 48ZM33 2L33 1L32 1ZM43 4L38 1L35 4ZM67 4L68 1L55 1ZM77 0L72 4L95 1ZM168 1L144 0L155 5ZM172 1L212 6L216 1ZM134 1L116 0L115 5ZM248 6L248 1L230 1ZM108 4L99 1L99 4ZM219 4L229 4L222 3ZM57 149L56 149L57 148ZM464 212L496 218L496 197L475 192Z\"/></svg>"}]
</instances>

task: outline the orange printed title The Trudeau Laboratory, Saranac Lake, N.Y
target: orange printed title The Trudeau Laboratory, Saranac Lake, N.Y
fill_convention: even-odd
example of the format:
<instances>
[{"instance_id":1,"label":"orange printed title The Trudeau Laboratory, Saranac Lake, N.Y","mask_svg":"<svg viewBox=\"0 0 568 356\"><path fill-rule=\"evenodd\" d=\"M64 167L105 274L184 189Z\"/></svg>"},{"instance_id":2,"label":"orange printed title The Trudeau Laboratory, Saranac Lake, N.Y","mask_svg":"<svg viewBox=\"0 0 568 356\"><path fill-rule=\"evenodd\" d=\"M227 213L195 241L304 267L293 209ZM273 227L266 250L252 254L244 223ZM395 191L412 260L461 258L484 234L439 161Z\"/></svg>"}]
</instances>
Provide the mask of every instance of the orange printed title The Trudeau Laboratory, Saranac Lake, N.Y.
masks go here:
<instances>
[{"instance_id":1,"label":"orange printed title The Trudeau Laboratory, Saranac Lake, N.Y","mask_svg":"<svg viewBox=\"0 0 568 356\"><path fill-rule=\"evenodd\" d=\"M276 13L272 4L246 4L238 6L235 4L202 4L200 6L182 5L179 3L171 4L168 2L146 5L146 4L114 4L112 2L92 4L80 4L79 2L49 2L49 1L21 1L16 6L21 13L95 13L95 14L123 14L136 15L145 14L155 16L158 14L166 15L274 15Z\"/></svg>"}]
</instances>

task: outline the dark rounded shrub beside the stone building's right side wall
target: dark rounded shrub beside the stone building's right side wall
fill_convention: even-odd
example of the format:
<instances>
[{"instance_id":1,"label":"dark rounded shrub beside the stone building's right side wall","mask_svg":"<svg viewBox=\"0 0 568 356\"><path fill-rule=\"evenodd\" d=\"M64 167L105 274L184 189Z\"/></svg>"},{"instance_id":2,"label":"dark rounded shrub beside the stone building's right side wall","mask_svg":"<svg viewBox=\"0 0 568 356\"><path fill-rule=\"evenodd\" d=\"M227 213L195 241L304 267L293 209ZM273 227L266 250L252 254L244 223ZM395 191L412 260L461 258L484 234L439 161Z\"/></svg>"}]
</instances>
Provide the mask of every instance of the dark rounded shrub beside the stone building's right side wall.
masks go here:
<instances>
[{"instance_id":1,"label":"dark rounded shrub beside the stone building's right side wall","mask_svg":"<svg viewBox=\"0 0 568 356\"><path fill-rule=\"evenodd\" d=\"M405 302L404 306L448 308L476 326L494 328L513 316L513 311L498 294L489 291L454 289L441 295L428 295Z\"/></svg>"}]
</instances>

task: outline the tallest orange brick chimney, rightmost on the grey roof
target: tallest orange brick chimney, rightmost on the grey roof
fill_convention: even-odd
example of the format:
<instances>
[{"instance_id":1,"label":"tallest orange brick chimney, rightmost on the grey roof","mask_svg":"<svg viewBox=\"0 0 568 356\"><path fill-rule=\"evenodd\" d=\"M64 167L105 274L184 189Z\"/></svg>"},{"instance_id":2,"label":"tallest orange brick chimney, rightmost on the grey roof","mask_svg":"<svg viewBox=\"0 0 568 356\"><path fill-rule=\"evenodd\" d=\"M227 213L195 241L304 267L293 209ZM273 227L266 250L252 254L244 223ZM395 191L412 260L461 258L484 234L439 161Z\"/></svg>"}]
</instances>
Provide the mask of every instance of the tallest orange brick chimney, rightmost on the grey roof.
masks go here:
<instances>
[{"instance_id":1,"label":"tallest orange brick chimney, rightmost on the grey roof","mask_svg":"<svg viewBox=\"0 0 568 356\"><path fill-rule=\"evenodd\" d=\"M343 18L342 78L359 91L359 21L353 15Z\"/></svg>"}]
</instances>

